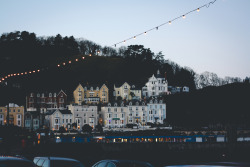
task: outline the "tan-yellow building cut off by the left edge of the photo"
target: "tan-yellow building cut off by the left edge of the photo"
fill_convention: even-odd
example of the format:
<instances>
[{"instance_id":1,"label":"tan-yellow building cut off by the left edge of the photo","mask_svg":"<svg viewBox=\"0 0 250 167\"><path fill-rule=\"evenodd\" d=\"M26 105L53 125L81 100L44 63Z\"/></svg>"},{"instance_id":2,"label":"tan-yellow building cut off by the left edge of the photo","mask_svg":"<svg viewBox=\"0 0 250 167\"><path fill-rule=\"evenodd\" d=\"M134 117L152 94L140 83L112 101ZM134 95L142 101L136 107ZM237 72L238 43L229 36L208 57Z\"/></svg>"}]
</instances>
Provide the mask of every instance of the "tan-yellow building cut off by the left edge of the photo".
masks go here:
<instances>
[{"instance_id":1,"label":"tan-yellow building cut off by the left edge of the photo","mask_svg":"<svg viewBox=\"0 0 250 167\"><path fill-rule=\"evenodd\" d=\"M0 107L0 125L5 124L24 127L24 106L9 103L7 106Z\"/></svg>"}]
</instances>

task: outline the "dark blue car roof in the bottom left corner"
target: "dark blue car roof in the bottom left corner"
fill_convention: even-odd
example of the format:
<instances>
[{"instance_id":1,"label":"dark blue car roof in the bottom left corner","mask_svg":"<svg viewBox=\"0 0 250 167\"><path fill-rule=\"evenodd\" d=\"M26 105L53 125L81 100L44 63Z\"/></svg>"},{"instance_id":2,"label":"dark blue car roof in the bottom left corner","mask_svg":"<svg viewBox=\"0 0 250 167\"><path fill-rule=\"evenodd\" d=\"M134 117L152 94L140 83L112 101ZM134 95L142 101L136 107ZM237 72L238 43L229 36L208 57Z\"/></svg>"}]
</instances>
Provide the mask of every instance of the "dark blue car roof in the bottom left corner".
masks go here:
<instances>
[{"instance_id":1,"label":"dark blue car roof in the bottom left corner","mask_svg":"<svg viewBox=\"0 0 250 167\"><path fill-rule=\"evenodd\" d=\"M24 158L1 156L0 167L35 167L35 164Z\"/></svg>"}]
</instances>

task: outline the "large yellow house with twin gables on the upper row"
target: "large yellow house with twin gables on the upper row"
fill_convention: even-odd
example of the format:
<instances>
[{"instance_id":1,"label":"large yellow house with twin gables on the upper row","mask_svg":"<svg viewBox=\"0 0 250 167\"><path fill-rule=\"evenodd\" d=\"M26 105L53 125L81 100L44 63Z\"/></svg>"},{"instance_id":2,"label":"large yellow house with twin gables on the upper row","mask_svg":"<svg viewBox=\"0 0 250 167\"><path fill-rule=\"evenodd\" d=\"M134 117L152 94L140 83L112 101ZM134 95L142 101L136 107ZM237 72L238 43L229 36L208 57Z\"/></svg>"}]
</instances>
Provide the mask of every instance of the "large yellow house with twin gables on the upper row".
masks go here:
<instances>
[{"instance_id":1,"label":"large yellow house with twin gables on the upper row","mask_svg":"<svg viewBox=\"0 0 250 167\"><path fill-rule=\"evenodd\" d=\"M82 86L79 84L73 92L73 96L74 103L78 105L109 102L109 90L105 84L102 86Z\"/></svg>"}]
</instances>

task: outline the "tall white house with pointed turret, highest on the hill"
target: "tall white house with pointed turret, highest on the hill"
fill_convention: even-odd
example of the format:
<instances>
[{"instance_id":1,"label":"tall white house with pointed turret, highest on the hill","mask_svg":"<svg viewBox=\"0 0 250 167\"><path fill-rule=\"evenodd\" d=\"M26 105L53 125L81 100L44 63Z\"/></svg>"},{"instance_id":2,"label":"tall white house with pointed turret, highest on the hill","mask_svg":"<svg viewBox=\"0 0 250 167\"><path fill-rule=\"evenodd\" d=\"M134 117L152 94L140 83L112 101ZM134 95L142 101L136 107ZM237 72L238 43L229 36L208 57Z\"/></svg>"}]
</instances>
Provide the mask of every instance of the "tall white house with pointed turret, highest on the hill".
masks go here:
<instances>
[{"instance_id":1,"label":"tall white house with pointed turret, highest on the hill","mask_svg":"<svg viewBox=\"0 0 250 167\"><path fill-rule=\"evenodd\" d=\"M143 97L159 96L161 94L168 94L168 82L160 74L160 71L157 71L157 75L150 77L148 82L142 88Z\"/></svg>"}]
</instances>

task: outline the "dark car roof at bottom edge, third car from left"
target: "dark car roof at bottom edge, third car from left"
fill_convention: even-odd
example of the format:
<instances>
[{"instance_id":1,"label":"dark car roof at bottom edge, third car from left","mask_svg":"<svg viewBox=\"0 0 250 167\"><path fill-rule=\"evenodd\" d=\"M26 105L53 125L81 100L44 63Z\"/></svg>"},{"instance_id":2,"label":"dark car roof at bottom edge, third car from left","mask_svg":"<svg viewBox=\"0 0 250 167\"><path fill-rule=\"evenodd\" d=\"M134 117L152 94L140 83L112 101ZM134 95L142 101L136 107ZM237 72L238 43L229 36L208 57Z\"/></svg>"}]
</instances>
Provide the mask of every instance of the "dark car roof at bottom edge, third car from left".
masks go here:
<instances>
[{"instance_id":1,"label":"dark car roof at bottom edge, third car from left","mask_svg":"<svg viewBox=\"0 0 250 167\"><path fill-rule=\"evenodd\" d=\"M92 167L153 167L150 163L133 160L102 160Z\"/></svg>"}]
</instances>

